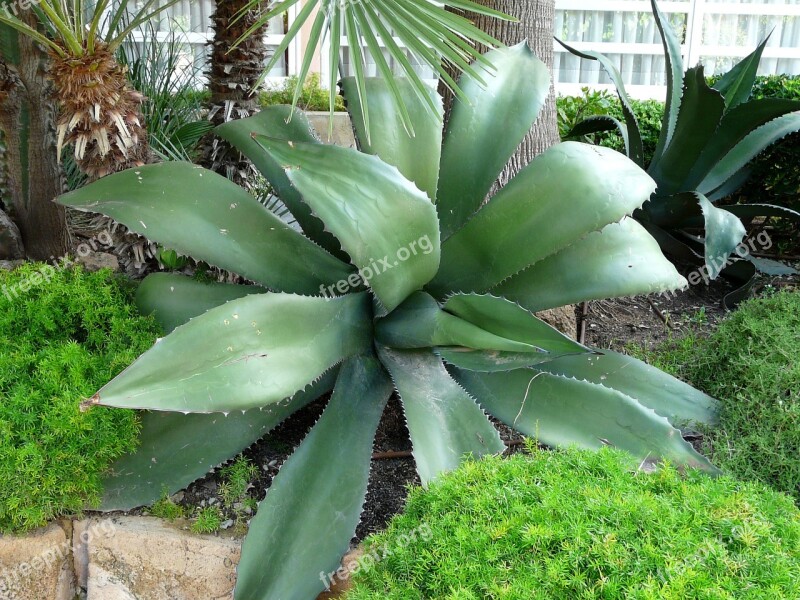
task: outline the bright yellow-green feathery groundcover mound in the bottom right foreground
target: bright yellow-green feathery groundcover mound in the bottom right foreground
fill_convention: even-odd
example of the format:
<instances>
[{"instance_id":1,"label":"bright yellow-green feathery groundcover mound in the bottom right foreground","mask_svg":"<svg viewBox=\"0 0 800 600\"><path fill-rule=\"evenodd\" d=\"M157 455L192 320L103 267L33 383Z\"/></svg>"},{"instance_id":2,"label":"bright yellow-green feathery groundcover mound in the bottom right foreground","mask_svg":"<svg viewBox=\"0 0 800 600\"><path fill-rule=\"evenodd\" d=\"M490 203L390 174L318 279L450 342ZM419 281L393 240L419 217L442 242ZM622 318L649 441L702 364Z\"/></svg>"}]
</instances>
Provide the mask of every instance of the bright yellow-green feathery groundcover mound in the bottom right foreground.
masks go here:
<instances>
[{"instance_id":1,"label":"bright yellow-green feathery groundcover mound in the bottom right foreground","mask_svg":"<svg viewBox=\"0 0 800 600\"><path fill-rule=\"evenodd\" d=\"M800 512L757 483L620 451L530 449L413 489L348 600L795 600ZM424 531L425 535L420 535Z\"/></svg>"}]
</instances>

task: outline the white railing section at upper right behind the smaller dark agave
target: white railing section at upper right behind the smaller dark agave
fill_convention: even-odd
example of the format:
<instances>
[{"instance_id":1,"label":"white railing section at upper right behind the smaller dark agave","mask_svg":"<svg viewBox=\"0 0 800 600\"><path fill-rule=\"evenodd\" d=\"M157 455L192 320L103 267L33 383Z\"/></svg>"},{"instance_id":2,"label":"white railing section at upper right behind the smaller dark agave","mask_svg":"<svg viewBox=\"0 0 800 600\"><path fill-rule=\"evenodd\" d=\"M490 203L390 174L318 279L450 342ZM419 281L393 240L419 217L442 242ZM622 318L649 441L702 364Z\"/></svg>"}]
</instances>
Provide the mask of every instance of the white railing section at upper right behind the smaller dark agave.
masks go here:
<instances>
[{"instance_id":1,"label":"white railing section at upper right behind the smaller dark agave","mask_svg":"<svg viewBox=\"0 0 800 600\"><path fill-rule=\"evenodd\" d=\"M800 0L683 0L659 7L682 38L686 65L703 63L707 74L723 72L772 31L759 73L800 74ZM663 48L649 1L556 0L556 35L579 50L609 55L631 95L663 98ZM555 50L559 93L613 89L595 61L558 44Z\"/></svg>"}]
</instances>

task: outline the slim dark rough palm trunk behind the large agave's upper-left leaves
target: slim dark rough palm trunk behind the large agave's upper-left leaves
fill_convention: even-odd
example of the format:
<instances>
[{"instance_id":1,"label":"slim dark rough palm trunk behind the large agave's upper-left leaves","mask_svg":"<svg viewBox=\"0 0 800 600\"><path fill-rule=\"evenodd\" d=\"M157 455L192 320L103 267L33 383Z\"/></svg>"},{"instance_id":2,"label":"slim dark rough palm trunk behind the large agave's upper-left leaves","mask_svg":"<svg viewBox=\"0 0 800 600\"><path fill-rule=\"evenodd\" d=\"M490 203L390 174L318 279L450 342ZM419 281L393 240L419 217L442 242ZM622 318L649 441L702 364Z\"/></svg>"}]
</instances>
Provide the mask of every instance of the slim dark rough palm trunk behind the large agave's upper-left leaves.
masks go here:
<instances>
[{"instance_id":1,"label":"slim dark rough palm trunk behind the large agave's upper-left leaves","mask_svg":"<svg viewBox=\"0 0 800 600\"><path fill-rule=\"evenodd\" d=\"M264 67L267 47L264 43L266 26L253 32L237 48L236 40L257 20L257 11L233 23L234 17L248 0L217 0L211 16L214 39L208 71L211 90L209 119L220 125L234 119L252 116L258 111L258 96L251 93ZM203 148L203 164L209 169L247 187L252 169L249 161L227 142L210 134Z\"/></svg>"}]
</instances>

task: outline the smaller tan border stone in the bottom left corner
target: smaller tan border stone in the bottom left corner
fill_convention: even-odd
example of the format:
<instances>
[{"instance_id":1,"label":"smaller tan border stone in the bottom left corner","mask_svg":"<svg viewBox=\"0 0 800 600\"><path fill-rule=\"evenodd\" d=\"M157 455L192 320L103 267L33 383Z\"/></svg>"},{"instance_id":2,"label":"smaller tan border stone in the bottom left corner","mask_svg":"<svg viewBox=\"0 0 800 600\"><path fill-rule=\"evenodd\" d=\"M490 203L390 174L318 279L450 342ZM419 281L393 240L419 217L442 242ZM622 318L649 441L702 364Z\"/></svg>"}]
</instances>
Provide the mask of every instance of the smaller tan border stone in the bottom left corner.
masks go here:
<instances>
[{"instance_id":1,"label":"smaller tan border stone in the bottom left corner","mask_svg":"<svg viewBox=\"0 0 800 600\"><path fill-rule=\"evenodd\" d=\"M70 542L58 524L0 536L0 600L72 600Z\"/></svg>"}]
</instances>

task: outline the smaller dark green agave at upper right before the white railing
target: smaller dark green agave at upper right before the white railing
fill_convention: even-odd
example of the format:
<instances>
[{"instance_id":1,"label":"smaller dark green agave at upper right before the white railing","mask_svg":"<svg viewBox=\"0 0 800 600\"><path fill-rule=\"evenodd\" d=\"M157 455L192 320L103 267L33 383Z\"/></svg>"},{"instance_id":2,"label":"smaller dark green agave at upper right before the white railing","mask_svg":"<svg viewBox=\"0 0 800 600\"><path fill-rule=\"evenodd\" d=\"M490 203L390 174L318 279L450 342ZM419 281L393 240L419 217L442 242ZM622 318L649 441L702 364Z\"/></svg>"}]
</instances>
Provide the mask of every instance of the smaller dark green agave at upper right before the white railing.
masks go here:
<instances>
[{"instance_id":1,"label":"smaller dark green agave at upper right before the white railing","mask_svg":"<svg viewBox=\"0 0 800 600\"><path fill-rule=\"evenodd\" d=\"M636 218L662 248L678 257L702 259L711 278L730 263L729 257L746 231L740 217L776 216L800 220L800 214L780 206L745 204L718 207L714 202L738 190L749 175L749 163L780 138L800 130L800 102L764 98L750 100L765 39L756 50L709 87L703 67L683 72L678 38L655 0L650 0L667 62L667 100L661 135L649 165L642 136L619 70L608 57L567 50L596 60L617 88L625 123L609 116L585 119L567 137L618 131L628 157L655 179L658 188ZM682 84L681 84L682 82ZM686 230L702 229L698 240ZM753 272L743 264L734 274Z\"/></svg>"}]
</instances>

